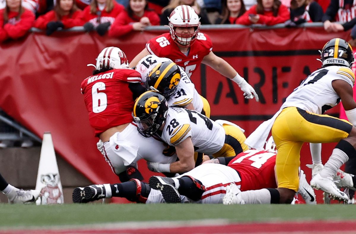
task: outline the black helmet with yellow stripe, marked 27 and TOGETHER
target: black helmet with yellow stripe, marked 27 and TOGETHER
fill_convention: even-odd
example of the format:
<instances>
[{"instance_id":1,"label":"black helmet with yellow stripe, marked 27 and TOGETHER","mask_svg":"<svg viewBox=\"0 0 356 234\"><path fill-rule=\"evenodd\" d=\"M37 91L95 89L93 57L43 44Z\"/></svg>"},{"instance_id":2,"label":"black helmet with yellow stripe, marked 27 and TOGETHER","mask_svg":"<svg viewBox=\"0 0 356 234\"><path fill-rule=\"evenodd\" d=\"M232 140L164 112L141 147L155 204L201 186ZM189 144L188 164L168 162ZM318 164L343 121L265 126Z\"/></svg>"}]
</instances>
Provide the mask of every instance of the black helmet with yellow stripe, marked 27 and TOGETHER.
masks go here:
<instances>
[{"instance_id":1,"label":"black helmet with yellow stripe, marked 27 and TOGETHER","mask_svg":"<svg viewBox=\"0 0 356 234\"><path fill-rule=\"evenodd\" d=\"M326 42L321 51L323 67L345 66L351 68L354 62L352 47L344 39L334 38Z\"/></svg>"}]
</instances>

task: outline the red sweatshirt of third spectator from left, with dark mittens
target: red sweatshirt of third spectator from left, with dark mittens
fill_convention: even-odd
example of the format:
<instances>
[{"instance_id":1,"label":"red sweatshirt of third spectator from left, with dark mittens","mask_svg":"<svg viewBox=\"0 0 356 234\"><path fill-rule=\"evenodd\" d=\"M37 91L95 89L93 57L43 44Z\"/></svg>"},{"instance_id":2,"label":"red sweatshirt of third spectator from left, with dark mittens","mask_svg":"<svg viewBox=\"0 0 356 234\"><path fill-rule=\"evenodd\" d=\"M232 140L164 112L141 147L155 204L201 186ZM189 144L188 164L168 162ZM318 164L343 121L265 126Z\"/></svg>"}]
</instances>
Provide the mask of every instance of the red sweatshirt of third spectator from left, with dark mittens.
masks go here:
<instances>
[{"instance_id":1,"label":"red sweatshirt of third spectator from left, with dark mittens","mask_svg":"<svg viewBox=\"0 0 356 234\"><path fill-rule=\"evenodd\" d=\"M114 23L115 17L120 14L120 12L124 10L124 6L118 4L114 1L114 8L110 12L106 12L106 7L101 11L100 14L92 14L90 13L90 5L85 7L82 14L82 20L86 22L92 23L95 27L99 25L99 23L110 22ZM96 11L100 11L99 7L96 7ZM100 15L100 17L98 16Z\"/></svg>"}]
</instances>

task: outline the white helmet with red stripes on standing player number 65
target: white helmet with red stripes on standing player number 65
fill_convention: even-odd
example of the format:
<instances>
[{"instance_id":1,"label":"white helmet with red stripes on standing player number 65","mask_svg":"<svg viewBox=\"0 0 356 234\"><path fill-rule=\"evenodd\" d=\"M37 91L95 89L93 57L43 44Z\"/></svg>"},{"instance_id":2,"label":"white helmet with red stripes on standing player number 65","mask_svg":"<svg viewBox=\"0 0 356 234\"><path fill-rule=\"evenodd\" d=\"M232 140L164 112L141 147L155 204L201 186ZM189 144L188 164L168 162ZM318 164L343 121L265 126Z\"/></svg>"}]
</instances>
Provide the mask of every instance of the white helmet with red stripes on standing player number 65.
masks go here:
<instances>
[{"instance_id":1,"label":"white helmet with red stripes on standing player number 65","mask_svg":"<svg viewBox=\"0 0 356 234\"><path fill-rule=\"evenodd\" d=\"M200 18L194 9L187 5L177 6L168 18L169 30L174 42L182 47L190 47L197 39L200 28ZM194 27L194 33L176 33L176 27Z\"/></svg>"}]
</instances>

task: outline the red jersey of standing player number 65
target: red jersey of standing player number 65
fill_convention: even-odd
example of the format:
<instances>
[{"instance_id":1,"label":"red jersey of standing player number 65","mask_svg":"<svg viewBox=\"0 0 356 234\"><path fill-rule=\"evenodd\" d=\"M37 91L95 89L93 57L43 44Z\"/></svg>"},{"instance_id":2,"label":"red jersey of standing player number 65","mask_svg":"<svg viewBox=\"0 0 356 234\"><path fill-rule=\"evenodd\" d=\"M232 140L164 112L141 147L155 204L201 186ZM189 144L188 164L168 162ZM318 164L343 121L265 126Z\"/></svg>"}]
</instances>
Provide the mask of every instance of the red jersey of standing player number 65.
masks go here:
<instances>
[{"instance_id":1,"label":"red jersey of standing player number 65","mask_svg":"<svg viewBox=\"0 0 356 234\"><path fill-rule=\"evenodd\" d=\"M213 50L213 43L205 33L198 33L197 40L189 47L188 56L182 53L170 33L164 33L152 38L146 44L150 54L158 57L169 58L182 67L188 76L192 76L199 67L201 60Z\"/></svg>"}]
</instances>

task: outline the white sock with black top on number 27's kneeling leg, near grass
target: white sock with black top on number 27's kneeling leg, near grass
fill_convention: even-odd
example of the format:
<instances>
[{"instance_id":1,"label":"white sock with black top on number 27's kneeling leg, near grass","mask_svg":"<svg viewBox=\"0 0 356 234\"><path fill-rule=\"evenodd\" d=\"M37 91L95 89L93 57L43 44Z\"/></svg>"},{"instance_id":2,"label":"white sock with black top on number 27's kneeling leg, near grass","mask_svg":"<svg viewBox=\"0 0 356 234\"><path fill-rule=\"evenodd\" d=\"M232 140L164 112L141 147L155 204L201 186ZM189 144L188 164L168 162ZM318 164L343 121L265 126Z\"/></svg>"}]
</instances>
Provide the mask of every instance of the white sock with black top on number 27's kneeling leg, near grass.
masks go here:
<instances>
[{"instance_id":1,"label":"white sock with black top on number 27's kneeling leg, near grass","mask_svg":"<svg viewBox=\"0 0 356 234\"><path fill-rule=\"evenodd\" d=\"M276 190L276 189L271 189ZM279 203L279 192L278 193L278 203ZM241 192L241 198L246 204L271 204L276 203L276 193L272 193L267 188L262 188L260 190L248 190Z\"/></svg>"}]
</instances>

